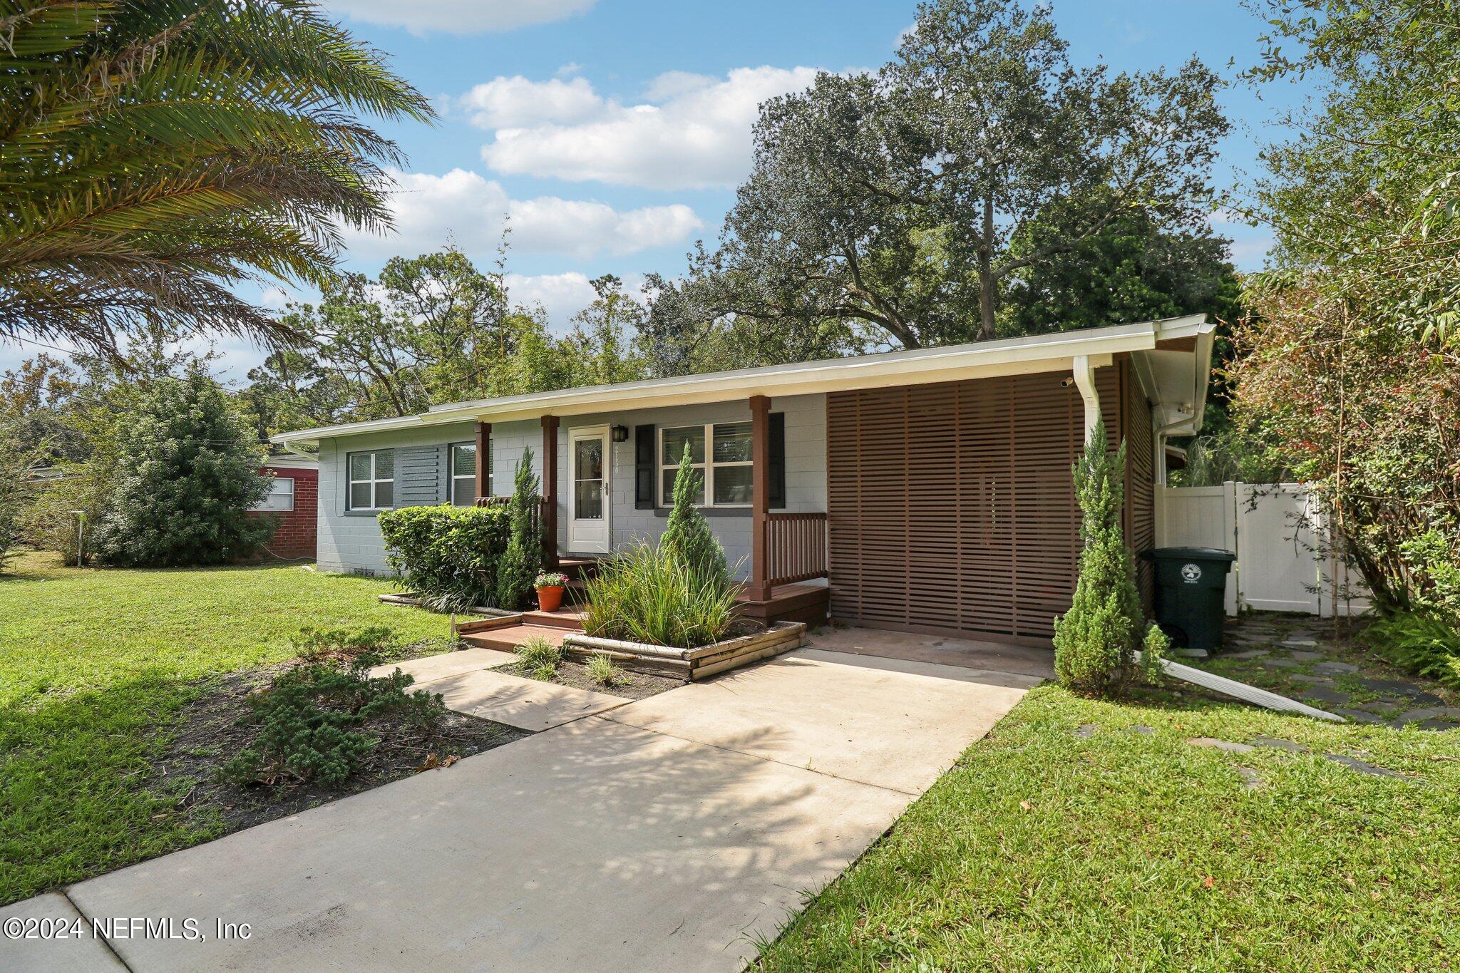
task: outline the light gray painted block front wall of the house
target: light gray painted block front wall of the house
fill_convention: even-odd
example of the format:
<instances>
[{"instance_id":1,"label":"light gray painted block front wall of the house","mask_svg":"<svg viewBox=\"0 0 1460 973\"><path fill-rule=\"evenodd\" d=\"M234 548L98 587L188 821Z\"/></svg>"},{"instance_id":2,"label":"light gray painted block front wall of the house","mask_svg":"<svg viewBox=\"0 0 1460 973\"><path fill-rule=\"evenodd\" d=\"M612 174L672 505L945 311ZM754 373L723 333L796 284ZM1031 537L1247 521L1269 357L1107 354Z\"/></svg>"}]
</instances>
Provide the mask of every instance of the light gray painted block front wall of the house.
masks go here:
<instances>
[{"instance_id":1,"label":"light gray painted block front wall of the house","mask_svg":"<svg viewBox=\"0 0 1460 973\"><path fill-rule=\"evenodd\" d=\"M771 411L785 414L785 508L787 511L826 509L826 397L784 395L771 400ZM612 443L609 486L612 496L612 537L619 550L637 538L657 540L664 532L666 511L641 511L634 503L634 427L688 426L712 422L748 422L746 401L714 403L629 411L606 411L591 416L565 416L558 430L558 550L568 548L568 430L581 426L628 426L628 442ZM444 446L470 442L472 423L458 423L419 430L365 433L320 443L320 570L385 573L384 543L372 513L345 509L347 493L346 455L366 449L399 449L406 446ZM512 489L512 471L524 448L533 449L533 473L542 476L542 425L523 420L492 425L492 493L507 495ZM444 467L442 480L447 481ZM448 483L448 481L447 481ZM439 502L447 502L445 489ZM740 573L750 569L750 511L748 508L715 512L710 527L726 547L731 565Z\"/></svg>"}]
</instances>

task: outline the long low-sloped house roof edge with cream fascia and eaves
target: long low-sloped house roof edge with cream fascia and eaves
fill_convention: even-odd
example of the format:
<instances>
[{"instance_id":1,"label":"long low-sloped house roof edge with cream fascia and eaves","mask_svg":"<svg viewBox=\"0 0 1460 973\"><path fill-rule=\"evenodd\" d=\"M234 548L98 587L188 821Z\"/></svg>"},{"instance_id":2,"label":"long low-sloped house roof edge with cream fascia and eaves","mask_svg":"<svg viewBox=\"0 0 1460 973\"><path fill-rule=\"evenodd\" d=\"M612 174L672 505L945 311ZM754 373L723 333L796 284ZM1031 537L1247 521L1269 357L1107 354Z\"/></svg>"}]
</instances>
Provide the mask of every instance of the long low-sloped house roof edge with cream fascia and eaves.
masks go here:
<instances>
[{"instance_id":1,"label":"long low-sloped house roof edge with cream fascia and eaves","mask_svg":"<svg viewBox=\"0 0 1460 973\"><path fill-rule=\"evenodd\" d=\"M950 344L936 349L883 352L856 357L745 368L704 375L677 375L618 385L565 388L552 392L505 395L434 406L419 416L345 423L279 433L272 442L302 446L356 433L413 429L477 420L511 422L539 416L581 416L607 408L654 408L748 398L750 395L806 395L854 388L949 382L996 375L1054 372L1073 368L1076 357L1091 366L1110 365L1113 356L1133 353L1148 398L1164 426L1190 420L1200 425L1210 369L1212 333L1206 315L1164 318L1104 328L1056 331L1018 338ZM1174 432L1174 430L1172 430Z\"/></svg>"}]
</instances>

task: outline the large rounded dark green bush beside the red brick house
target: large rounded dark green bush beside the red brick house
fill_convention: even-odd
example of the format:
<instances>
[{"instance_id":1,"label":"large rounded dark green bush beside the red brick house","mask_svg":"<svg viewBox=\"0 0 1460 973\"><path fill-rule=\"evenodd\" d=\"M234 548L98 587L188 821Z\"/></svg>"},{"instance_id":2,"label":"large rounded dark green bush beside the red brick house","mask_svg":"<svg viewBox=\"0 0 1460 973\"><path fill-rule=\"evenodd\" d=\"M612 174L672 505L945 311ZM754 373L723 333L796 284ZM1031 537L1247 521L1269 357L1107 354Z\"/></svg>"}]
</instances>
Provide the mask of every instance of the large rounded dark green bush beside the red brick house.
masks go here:
<instances>
[{"instance_id":1,"label":"large rounded dark green bush beside the red brick house","mask_svg":"<svg viewBox=\"0 0 1460 973\"><path fill-rule=\"evenodd\" d=\"M112 565L218 565L253 554L273 522L264 451L241 407L200 368L139 387L120 426L115 484L95 547Z\"/></svg>"}]
</instances>

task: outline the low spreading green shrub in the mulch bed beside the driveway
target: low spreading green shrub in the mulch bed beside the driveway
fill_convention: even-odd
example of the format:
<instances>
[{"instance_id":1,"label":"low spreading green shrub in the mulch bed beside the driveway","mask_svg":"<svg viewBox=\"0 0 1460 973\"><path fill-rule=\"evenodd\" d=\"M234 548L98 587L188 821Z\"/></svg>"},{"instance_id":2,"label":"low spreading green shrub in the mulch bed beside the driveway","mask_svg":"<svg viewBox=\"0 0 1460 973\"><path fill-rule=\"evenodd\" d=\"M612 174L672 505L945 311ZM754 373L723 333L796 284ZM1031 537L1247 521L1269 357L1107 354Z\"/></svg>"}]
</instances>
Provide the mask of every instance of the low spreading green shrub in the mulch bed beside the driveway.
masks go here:
<instances>
[{"instance_id":1,"label":"low spreading green shrub in the mulch bed beside the driveway","mask_svg":"<svg viewBox=\"0 0 1460 973\"><path fill-rule=\"evenodd\" d=\"M330 633L307 632L299 643L308 651L305 661L250 697L258 735L223 764L225 780L248 785L293 779L339 785L380 743L371 734L371 721L388 715L428 737L445 716L441 694L407 691L415 680L400 670L390 675L369 674L369 668L380 664L380 654L364 645L380 643L372 635L331 642ZM349 662L337 661L352 652Z\"/></svg>"}]
</instances>

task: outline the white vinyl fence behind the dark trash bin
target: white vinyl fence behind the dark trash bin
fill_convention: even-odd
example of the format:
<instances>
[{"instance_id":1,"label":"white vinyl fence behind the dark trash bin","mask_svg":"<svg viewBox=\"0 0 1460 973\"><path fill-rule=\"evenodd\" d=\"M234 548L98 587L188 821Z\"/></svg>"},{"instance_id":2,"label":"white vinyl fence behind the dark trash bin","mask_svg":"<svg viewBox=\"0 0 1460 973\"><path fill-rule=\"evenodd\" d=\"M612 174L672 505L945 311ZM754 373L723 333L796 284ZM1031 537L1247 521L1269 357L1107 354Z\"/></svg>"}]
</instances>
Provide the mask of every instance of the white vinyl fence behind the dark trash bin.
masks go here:
<instances>
[{"instance_id":1,"label":"white vinyl fence behind the dark trash bin","mask_svg":"<svg viewBox=\"0 0 1460 973\"><path fill-rule=\"evenodd\" d=\"M1327 525L1296 483L1156 487L1158 547L1219 547L1237 554L1226 613L1359 614L1359 579L1327 553ZM1350 588L1352 586L1352 588Z\"/></svg>"}]
</instances>

